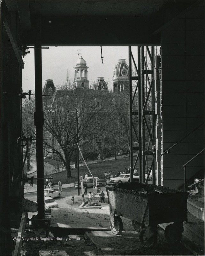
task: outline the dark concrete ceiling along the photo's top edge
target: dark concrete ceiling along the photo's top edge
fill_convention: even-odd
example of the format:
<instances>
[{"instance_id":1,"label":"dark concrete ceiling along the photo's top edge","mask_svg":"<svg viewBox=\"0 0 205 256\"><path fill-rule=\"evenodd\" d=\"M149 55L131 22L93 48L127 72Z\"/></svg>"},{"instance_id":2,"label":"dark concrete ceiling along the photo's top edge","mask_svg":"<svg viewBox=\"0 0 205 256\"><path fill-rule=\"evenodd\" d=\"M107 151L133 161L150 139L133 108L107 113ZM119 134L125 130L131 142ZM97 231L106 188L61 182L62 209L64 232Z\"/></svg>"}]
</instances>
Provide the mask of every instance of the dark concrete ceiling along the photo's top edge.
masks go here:
<instances>
[{"instance_id":1,"label":"dark concrete ceiling along the photo's top edge","mask_svg":"<svg viewBox=\"0 0 205 256\"><path fill-rule=\"evenodd\" d=\"M30 11L42 16L74 15L150 15L168 0L6 0L8 11L17 11L19 3L29 2Z\"/></svg>"}]
</instances>

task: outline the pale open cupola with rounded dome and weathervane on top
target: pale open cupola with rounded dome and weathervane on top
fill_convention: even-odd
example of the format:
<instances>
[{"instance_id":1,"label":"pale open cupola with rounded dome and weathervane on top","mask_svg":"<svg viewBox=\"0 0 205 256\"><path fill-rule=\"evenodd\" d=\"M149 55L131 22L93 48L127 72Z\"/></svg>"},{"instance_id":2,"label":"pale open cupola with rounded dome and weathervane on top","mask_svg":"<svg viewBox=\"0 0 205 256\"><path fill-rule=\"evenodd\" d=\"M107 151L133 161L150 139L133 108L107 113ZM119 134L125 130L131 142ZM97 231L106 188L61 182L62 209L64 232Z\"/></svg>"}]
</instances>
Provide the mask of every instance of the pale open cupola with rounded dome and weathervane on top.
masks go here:
<instances>
[{"instance_id":1,"label":"pale open cupola with rounded dome and weathervane on top","mask_svg":"<svg viewBox=\"0 0 205 256\"><path fill-rule=\"evenodd\" d=\"M89 81L87 80L87 69L86 61L82 58L81 53L80 57L76 62L74 67L75 69L75 79L73 85L75 88L85 88L89 89Z\"/></svg>"}]
</instances>

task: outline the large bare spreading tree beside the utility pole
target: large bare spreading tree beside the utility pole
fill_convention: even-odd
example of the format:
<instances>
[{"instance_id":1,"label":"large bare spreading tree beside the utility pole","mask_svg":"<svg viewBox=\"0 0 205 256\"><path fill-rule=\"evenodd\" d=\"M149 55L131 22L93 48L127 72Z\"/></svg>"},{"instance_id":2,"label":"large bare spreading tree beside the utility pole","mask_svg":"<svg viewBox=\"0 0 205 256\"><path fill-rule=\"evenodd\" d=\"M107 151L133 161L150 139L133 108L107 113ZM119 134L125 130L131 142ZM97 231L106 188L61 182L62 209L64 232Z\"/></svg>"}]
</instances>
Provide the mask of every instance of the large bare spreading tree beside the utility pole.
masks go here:
<instances>
[{"instance_id":1,"label":"large bare spreading tree beside the utility pole","mask_svg":"<svg viewBox=\"0 0 205 256\"><path fill-rule=\"evenodd\" d=\"M70 161L76 148L76 109L79 146L82 147L93 140L91 134L95 131L96 116L101 110L95 100L99 97L97 91L76 89L67 91L64 96L54 101L44 102L44 129L52 136L53 141L56 141L44 141L44 145L65 164L67 177L72 177Z\"/></svg>"}]
</instances>

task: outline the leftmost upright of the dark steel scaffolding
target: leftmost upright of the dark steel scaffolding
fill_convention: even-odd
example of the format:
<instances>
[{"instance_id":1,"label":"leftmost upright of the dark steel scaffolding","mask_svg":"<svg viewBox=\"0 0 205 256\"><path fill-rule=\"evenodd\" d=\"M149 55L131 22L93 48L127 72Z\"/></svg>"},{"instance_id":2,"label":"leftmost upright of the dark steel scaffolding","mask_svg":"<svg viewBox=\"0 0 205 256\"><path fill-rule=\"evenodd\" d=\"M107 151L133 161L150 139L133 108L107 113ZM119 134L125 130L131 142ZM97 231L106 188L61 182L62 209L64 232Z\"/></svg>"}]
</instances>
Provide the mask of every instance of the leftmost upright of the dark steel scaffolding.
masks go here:
<instances>
[{"instance_id":1,"label":"leftmost upright of the dark steel scaffolding","mask_svg":"<svg viewBox=\"0 0 205 256\"><path fill-rule=\"evenodd\" d=\"M129 135L130 135L130 181L133 181L133 116L132 116L132 48L129 46Z\"/></svg>"}]
</instances>

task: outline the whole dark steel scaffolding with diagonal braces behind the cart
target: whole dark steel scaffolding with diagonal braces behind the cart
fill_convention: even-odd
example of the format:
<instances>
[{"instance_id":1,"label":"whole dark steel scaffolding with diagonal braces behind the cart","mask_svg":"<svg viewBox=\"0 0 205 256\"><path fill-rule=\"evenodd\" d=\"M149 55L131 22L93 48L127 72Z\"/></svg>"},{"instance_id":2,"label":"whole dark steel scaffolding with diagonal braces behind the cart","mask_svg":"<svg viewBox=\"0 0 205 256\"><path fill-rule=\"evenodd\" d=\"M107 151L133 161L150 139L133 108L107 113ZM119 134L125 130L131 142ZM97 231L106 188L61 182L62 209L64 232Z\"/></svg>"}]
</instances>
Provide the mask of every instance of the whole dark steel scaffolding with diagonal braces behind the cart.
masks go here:
<instances>
[{"instance_id":1,"label":"whole dark steel scaffolding with diagonal braces behind the cart","mask_svg":"<svg viewBox=\"0 0 205 256\"><path fill-rule=\"evenodd\" d=\"M137 63L137 65L136 65ZM155 138L155 51L154 46L138 46L137 62L129 46L129 123L130 123L130 180L139 161L140 183L156 183L156 138ZM136 103L137 107L136 109ZM136 146L135 139L138 146ZM133 151L138 150L133 164ZM148 161L149 160L149 161Z\"/></svg>"}]
</instances>

